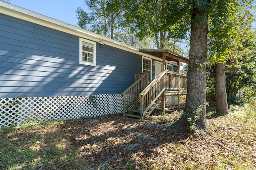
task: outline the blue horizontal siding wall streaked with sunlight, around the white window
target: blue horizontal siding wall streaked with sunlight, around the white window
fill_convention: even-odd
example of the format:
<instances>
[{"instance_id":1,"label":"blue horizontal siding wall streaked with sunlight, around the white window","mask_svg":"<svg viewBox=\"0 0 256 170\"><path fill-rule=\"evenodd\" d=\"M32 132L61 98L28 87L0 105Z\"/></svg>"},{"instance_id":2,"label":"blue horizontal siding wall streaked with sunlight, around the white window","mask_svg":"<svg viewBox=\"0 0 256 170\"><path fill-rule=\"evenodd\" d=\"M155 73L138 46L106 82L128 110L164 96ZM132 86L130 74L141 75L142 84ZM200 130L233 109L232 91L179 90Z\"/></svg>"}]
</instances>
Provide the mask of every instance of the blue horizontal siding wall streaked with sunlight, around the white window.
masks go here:
<instances>
[{"instance_id":1,"label":"blue horizontal siding wall streaked with sunlight, around the white window","mask_svg":"<svg viewBox=\"0 0 256 170\"><path fill-rule=\"evenodd\" d=\"M138 54L97 43L96 66L79 64L78 36L0 17L0 98L120 94L141 72Z\"/></svg>"}]
</instances>

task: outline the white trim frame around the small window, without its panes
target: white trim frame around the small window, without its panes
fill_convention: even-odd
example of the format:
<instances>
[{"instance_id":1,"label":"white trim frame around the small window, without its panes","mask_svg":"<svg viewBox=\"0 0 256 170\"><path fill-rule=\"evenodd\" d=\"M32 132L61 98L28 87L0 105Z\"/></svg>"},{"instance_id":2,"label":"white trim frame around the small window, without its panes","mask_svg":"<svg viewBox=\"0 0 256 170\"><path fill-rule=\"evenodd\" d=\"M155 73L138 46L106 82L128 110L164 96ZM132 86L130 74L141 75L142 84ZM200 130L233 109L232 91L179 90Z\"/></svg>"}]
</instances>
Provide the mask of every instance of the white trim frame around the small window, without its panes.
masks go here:
<instances>
[{"instance_id":1,"label":"white trim frame around the small window, without its panes","mask_svg":"<svg viewBox=\"0 0 256 170\"><path fill-rule=\"evenodd\" d=\"M84 62L83 59L83 42L93 44L93 62ZM87 39L79 38L79 64L96 66L96 42Z\"/></svg>"}]
</instances>

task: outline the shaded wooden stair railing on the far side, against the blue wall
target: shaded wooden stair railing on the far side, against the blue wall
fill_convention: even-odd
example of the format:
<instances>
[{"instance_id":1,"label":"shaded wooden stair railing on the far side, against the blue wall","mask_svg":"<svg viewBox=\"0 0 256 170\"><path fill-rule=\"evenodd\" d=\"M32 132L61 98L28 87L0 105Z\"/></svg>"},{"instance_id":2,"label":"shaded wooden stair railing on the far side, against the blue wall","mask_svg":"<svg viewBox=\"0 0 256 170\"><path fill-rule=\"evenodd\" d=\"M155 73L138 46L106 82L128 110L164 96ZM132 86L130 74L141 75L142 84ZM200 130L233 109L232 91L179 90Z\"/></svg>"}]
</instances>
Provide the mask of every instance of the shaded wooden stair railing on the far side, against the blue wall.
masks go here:
<instances>
[{"instance_id":1,"label":"shaded wooden stair railing on the far side, against the blue wall","mask_svg":"<svg viewBox=\"0 0 256 170\"><path fill-rule=\"evenodd\" d=\"M140 92L142 92L146 86L148 86L148 73L136 73L135 74L135 82L128 87L124 92L122 92L123 96L123 113L125 114L126 111L129 109L134 102L139 97Z\"/></svg>"}]
</instances>

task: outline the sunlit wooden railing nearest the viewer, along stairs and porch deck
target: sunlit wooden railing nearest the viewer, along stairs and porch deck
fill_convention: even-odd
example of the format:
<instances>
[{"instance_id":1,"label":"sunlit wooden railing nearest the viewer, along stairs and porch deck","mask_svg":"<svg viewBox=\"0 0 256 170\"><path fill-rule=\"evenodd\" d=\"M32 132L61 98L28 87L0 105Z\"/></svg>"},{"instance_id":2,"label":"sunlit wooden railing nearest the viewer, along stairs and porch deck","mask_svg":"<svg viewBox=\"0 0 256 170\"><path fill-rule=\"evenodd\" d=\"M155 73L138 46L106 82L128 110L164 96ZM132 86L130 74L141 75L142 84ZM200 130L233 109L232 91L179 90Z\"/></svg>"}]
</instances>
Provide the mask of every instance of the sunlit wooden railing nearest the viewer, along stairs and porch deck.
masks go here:
<instances>
[{"instance_id":1,"label":"sunlit wooden railing nearest the viewer, along stairs and porch deck","mask_svg":"<svg viewBox=\"0 0 256 170\"><path fill-rule=\"evenodd\" d=\"M166 90L186 89L186 75L164 70L140 94L141 117Z\"/></svg>"}]
</instances>

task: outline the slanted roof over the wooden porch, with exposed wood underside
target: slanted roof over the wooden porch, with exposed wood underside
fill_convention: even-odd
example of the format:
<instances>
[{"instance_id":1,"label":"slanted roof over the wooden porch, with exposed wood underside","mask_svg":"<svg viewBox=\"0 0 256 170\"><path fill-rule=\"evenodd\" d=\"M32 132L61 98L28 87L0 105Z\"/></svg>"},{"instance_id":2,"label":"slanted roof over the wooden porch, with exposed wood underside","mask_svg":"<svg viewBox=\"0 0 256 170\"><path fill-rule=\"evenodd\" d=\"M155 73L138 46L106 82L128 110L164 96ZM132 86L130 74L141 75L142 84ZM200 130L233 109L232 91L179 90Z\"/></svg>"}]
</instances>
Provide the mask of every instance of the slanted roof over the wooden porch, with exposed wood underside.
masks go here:
<instances>
[{"instance_id":1,"label":"slanted roof over the wooden porch, with exposed wood underside","mask_svg":"<svg viewBox=\"0 0 256 170\"><path fill-rule=\"evenodd\" d=\"M167 61L175 61L175 62L182 62L188 64L188 59L183 57L173 51L166 50L166 49L139 49L140 52L146 53L160 59L163 59L165 56L165 60Z\"/></svg>"}]
</instances>

